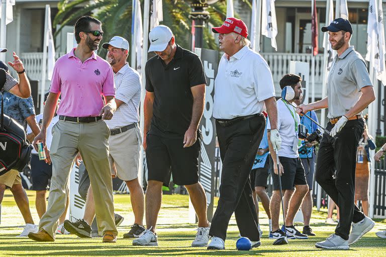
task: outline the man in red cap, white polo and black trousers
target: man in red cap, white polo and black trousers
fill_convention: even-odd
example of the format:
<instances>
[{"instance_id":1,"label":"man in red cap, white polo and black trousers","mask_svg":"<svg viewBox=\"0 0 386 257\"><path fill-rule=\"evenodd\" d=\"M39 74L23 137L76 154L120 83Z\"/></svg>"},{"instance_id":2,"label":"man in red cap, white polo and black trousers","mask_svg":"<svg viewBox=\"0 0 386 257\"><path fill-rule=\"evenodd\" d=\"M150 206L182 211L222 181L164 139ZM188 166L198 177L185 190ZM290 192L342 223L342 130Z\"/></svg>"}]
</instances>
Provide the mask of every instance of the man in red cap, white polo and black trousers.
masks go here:
<instances>
[{"instance_id":1,"label":"man in red cap, white polo and black trousers","mask_svg":"<svg viewBox=\"0 0 386 257\"><path fill-rule=\"evenodd\" d=\"M264 104L270 120L270 141L279 149L277 108L272 74L267 62L249 48L245 23L227 18L219 33L224 51L215 79L213 117L223 170L220 199L212 219L208 249L224 249L229 220L235 213L241 236L260 245L258 219L249 174L265 129Z\"/></svg>"}]
</instances>

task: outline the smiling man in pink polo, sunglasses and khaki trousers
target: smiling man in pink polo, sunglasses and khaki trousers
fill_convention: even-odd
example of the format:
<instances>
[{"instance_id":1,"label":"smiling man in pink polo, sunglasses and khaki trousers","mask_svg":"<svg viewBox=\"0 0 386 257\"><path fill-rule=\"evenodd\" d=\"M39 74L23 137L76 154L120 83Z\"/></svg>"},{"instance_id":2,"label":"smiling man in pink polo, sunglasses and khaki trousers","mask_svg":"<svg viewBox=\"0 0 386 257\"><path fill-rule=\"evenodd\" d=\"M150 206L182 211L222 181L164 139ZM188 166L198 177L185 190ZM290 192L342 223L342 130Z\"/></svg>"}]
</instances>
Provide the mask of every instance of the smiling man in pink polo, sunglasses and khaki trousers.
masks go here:
<instances>
[{"instance_id":1,"label":"smiling man in pink polo, sunglasses and khaki trousers","mask_svg":"<svg viewBox=\"0 0 386 257\"><path fill-rule=\"evenodd\" d=\"M59 121L52 128L50 155L52 179L46 213L37 233L28 237L35 241L54 241L58 219L66 204L68 177L78 152L88 170L94 194L98 230L103 231L103 242L116 242L114 222L113 184L109 164L110 130L104 120L110 120L117 106L115 86L110 64L96 55L102 40L99 20L83 16L75 24L77 47L60 57L54 66L50 94L43 113L41 132L36 143L46 143L46 131L57 110ZM106 99L102 99L102 96Z\"/></svg>"}]
</instances>

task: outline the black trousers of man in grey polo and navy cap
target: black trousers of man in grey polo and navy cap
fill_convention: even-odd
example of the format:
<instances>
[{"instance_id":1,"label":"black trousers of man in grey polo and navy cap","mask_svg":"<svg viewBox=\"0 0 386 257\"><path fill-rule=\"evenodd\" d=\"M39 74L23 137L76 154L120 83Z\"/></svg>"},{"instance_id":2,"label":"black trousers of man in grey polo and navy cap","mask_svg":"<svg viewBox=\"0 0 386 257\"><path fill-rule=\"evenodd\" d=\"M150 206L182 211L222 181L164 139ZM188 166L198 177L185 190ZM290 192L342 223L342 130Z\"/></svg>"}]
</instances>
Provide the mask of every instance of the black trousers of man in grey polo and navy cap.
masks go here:
<instances>
[{"instance_id":1,"label":"black trousers of man in grey polo and navy cap","mask_svg":"<svg viewBox=\"0 0 386 257\"><path fill-rule=\"evenodd\" d=\"M328 123L327 129L332 128ZM356 153L363 129L363 119L349 120L335 138L323 134L316 162L316 181L339 206L340 219L335 234L345 240L348 240L351 222L364 218L354 203Z\"/></svg>"}]
</instances>

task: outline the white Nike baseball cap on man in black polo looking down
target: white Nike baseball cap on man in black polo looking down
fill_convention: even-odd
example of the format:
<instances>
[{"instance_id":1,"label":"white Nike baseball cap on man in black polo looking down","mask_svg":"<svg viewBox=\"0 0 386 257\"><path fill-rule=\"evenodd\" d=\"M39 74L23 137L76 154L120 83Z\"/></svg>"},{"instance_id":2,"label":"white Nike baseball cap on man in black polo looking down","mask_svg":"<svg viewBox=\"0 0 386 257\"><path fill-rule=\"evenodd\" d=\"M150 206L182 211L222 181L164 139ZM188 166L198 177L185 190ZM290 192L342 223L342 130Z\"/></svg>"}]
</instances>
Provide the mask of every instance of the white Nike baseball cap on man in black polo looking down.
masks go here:
<instances>
[{"instance_id":1,"label":"white Nike baseball cap on man in black polo looking down","mask_svg":"<svg viewBox=\"0 0 386 257\"><path fill-rule=\"evenodd\" d=\"M173 37L169 27L159 25L154 27L149 33L150 47L148 52L162 52Z\"/></svg>"}]
</instances>

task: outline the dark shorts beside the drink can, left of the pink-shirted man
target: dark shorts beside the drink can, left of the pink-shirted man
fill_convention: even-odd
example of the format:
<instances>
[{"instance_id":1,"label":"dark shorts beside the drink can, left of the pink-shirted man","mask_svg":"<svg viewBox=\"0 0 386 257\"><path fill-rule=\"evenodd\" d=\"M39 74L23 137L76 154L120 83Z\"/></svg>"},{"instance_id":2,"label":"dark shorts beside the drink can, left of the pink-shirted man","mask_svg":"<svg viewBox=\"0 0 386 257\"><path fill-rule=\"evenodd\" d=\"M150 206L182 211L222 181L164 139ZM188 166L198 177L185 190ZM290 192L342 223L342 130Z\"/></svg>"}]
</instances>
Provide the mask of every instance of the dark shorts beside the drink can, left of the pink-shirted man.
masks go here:
<instances>
[{"instance_id":1,"label":"dark shorts beside the drink can, left of the pink-shirted man","mask_svg":"<svg viewBox=\"0 0 386 257\"><path fill-rule=\"evenodd\" d=\"M39 155L31 155L31 178L32 190L47 190L48 183L52 177L52 164L39 160Z\"/></svg>"}]
</instances>

